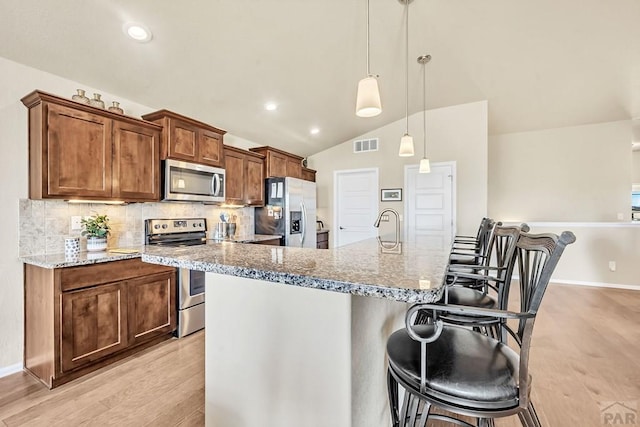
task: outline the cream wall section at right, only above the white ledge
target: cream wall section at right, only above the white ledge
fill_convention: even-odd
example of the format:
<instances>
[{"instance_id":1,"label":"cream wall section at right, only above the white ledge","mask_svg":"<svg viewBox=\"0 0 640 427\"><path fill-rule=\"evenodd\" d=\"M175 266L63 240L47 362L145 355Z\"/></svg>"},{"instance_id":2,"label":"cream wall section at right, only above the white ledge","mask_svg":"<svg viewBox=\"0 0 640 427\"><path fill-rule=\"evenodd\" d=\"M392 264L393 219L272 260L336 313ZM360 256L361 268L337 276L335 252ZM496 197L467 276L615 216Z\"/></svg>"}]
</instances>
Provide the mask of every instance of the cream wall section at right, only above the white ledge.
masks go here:
<instances>
[{"instance_id":1,"label":"cream wall section at right, only above the white ledge","mask_svg":"<svg viewBox=\"0 0 640 427\"><path fill-rule=\"evenodd\" d=\"M489 215L631 220L631 121L493 135Z\"/></svg>"}]
</instances>

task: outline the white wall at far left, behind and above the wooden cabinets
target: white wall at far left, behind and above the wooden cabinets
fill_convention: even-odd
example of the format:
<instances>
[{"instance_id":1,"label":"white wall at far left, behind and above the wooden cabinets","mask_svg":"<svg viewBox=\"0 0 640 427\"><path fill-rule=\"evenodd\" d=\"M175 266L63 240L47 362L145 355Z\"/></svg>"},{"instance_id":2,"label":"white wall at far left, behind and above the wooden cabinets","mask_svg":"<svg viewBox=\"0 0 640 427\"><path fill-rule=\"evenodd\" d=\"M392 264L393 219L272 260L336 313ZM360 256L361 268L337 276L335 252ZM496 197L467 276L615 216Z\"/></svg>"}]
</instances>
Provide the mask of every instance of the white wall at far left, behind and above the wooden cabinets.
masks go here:
<instances>
[{"instance_id":1,"label":"white wall at far left, behind and above the wooden cabinets","mask_svg":"<svg viewBox=\"0 0 640 427\"><path fill-rule=\"evenodd\" d=\"M99 88L73 82L0 57L0 224L3 225L0 244L0 376L22 367L23 348L23 277L19 260L20 199L28 197L28 126L27 108L20 99L35 89L59 96L71 97L76 89L88 94L102 93L105 103L119 101L125 114L142 114L163 108L147 107L122 97L105 93ZM215 123L212 123L215 125ZM250 147L251 141L225 135L225 143ZM43 248L44 252L44 248Z\"/></svg>"}]
</instances>

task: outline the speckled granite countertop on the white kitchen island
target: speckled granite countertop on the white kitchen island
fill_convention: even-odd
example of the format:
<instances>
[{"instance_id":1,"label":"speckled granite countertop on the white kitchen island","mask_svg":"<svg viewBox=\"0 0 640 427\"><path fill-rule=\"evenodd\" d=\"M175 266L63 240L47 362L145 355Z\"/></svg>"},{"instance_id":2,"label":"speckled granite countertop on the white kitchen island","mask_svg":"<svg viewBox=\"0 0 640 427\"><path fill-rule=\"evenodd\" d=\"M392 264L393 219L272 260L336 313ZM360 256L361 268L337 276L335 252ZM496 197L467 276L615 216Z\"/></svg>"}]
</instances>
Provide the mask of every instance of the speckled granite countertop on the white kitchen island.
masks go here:
<instances>
[{"instance_id":1,"label":"speckled granite countertop on the white kitchen island","mask_svg":"<svg viewBox=\"0 0 640 427\"><path fill-rule=\"evenodd\" d=\"M403 242L402 253L382 253L376 239L334 249L211 243L145 247L154 264L404 302L441 297L448 252Z\"/></svg>"}]
</instances>

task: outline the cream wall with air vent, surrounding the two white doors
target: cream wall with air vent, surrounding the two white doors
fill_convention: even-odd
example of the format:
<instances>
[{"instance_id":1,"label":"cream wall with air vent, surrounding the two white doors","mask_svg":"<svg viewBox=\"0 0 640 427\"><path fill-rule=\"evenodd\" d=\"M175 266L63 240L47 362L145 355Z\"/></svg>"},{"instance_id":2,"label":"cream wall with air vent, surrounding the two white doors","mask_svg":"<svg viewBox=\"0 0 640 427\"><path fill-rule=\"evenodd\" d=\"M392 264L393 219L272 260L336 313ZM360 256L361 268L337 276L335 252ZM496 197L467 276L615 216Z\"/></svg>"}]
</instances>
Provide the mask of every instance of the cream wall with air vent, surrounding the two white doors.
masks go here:
<instances>
[{"instance_id":1,"label":"cream wall with air vent, surrounding the two white doors","mask_svg":"<svg viewBox=\"0 0 640 427\"><path fill-rule=\"evenodd\" d=\"M338 170L379 168L379 188L402 188L404 166L418 164L423 156L422 112L409 117L409 133L415 144L414 157L398 157L405 120L372 130L353 140L309 157L316 169L318 217L333 229L333 173ZM379 138L379 150L353 153L353 141ZM457 165L458 233L475 234L487 212L487 102L474 102L427 111L427 154L431 162L455 161ZM380 202L404 214L403 204ZM330 239L331 241L332 239Z\"/></svg>"}]
</instances>

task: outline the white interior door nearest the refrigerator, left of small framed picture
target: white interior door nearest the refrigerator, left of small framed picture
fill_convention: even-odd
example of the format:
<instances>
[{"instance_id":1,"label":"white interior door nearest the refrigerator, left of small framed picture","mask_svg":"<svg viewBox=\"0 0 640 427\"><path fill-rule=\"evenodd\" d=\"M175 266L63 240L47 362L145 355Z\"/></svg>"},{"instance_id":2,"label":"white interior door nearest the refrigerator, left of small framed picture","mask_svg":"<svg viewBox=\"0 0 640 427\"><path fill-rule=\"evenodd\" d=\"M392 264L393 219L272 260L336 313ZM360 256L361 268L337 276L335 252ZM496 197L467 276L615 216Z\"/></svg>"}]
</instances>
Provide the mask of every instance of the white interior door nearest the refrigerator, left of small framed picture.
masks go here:
<instances>
[{"instance_id":1,"label":"white interior door nearest the refrigerator, left of small framed picture","mask_svg":"<svg viewBox=\"0 0 640 427\"><path fill-rule=\"evenodd\" d=\"M377 235L373 226L378 210L378 169L334 172L333 246L343 246Z\"/></svg>"}]
</instances>

